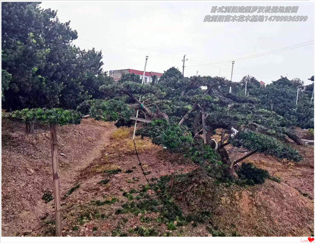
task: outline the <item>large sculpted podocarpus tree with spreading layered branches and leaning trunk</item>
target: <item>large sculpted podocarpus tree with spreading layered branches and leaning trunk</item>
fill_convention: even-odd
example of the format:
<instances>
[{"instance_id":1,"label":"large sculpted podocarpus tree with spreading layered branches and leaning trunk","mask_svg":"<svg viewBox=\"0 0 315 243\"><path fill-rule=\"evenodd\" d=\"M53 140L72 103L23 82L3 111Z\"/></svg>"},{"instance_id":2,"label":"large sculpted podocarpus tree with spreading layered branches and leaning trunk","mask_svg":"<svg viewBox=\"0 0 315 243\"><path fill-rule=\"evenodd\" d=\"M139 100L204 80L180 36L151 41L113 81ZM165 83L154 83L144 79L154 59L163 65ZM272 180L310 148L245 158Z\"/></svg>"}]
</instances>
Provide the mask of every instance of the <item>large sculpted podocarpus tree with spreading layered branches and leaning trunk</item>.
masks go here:
<instances>
[{"instance_id":1,"label":"large sculpted podocarpus tree with spreading layered branches and leaning trunk","mask_svg":"<svg viewBox=\"0 0 315 243\"><path fill-rule=\"evenodd\" d=\"M300 161L298 152L280 141L288 134L294 135L294 131L281 122L285 119L280 116L282 120L278 119L274 112L257 109L259 100L255 97L229 93L230 86L241 85L222 77L185 78L178 69L172 68L158 83L140 85L132 80L121 80L101 89L114 91L116 97L127 96L129 99L124 99L128 106L142 109L147 119L165 119L166 123L152 122L140 131L140 135L151 137L158 144L167 144L166 147L173 150L177 147L175 151L181 151L180 146L183 146L187 152L187 143L190 143L191 147L197 147L195 153L200 154L203 152L199 149L205 147L196 144L202 139L204 146L220 156L226 176L238 177L233 165L256 152ZM140 94L143 102L137 99ZM218 128L222 129L219 142L212 137ZM244 147L249 154L238 159L238 149L236 153L227 153L228 144L233 145L232 150Z\"/></svg>"}]
</instances>

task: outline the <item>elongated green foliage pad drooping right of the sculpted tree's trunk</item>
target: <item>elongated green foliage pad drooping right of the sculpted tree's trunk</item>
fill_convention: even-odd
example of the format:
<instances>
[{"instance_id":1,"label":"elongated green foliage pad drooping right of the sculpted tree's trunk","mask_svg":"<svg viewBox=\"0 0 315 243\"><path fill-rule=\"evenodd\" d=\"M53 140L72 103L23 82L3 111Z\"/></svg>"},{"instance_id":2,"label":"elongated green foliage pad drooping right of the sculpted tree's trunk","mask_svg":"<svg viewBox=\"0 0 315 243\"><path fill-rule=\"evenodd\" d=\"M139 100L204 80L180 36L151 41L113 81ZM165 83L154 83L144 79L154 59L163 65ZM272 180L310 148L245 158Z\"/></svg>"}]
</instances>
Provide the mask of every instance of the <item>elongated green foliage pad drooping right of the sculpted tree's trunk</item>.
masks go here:
<instances>
[{"instance_id":1,"label":"elongated green foliage pad drooping right of the sculpted tree's trunk","mask_svg":"<svg viewBox=\"0 0 315 243\"><path fill-rule=\"evenodd\" d=\"M285 143L256 132L241 131L236 138L230 139L230 142L235 147L244 147L251 151L255 150L278 158L287 158L295 162L303 159L297 150L285 145Z\"/></svg>"}]
</instances>

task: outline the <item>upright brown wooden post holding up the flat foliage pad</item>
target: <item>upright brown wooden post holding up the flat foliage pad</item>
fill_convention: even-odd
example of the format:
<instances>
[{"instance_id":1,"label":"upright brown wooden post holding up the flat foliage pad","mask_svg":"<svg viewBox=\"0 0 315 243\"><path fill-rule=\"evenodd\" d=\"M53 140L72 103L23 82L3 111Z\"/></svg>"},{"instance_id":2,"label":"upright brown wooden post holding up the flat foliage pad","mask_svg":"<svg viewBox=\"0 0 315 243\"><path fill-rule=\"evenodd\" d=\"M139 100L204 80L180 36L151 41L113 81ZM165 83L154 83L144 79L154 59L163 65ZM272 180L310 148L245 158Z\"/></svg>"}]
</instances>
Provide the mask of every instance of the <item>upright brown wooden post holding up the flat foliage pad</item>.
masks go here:
<instances>
[{"instance_id":1,"label":"upright brown wooden post holding up the flat foliage pad","mask_svg":"<svg viewBox=\"0 0 315 243\"><path fill-rule=\"evenodd\" d=\"M62 236L61 229L61 208L60 208L60 180L59 180L59 164L58 164L58 145L56 124L50 123L52 160L53 160L53 196L55 206L55 230L56 236Z\"/></svg>"}]
</instances>

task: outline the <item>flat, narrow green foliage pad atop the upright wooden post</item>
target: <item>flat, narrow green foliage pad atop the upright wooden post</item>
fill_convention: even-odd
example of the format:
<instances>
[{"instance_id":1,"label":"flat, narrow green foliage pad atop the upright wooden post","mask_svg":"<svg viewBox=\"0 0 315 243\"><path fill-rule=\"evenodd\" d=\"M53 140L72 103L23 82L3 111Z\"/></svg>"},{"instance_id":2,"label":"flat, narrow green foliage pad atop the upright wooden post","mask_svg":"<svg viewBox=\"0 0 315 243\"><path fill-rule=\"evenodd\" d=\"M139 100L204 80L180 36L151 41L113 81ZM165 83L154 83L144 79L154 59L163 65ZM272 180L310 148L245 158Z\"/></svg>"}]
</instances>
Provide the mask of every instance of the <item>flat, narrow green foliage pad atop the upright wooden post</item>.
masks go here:
<instances>
[{"instance_id":1,"label":"flat, narrow green foliage pad atop the upright wooden post","mask_svg":"<svg viewBox=\"0 0 315 243\"><path fill-rule=\"evenodd\" d=\"M66 125L79 124L81 121L81 114L75 110L63 110L60 108L25 108L22 110L13 111L11 118L24 122L38 121L44 124L53 123L58 125Z\"/></svg>"}]
</instances>

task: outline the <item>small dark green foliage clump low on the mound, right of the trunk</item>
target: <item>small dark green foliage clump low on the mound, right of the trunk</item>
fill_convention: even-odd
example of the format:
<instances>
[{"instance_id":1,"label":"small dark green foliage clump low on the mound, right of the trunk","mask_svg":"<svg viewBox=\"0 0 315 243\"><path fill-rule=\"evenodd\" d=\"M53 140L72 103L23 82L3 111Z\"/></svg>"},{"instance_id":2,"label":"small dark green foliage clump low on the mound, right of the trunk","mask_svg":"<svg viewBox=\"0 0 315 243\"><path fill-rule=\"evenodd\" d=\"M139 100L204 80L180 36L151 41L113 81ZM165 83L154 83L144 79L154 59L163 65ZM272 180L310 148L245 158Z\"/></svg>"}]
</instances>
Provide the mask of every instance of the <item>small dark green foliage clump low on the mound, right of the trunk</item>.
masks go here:
<instances>
[{"instance_id":1,"label":"small dark green foliage clump low on the mound, right of the trunk","mask_svg":"<svg viewBox=\"0 0 315 243\"><path fill-rule=\"evenodd\" d=\"M246 184L255 185L264 183L270 175L266 170L259 169L251 163L243 163L241 168L236 171L241 179L246 180Z\"/></svg>"}]
</instances>

